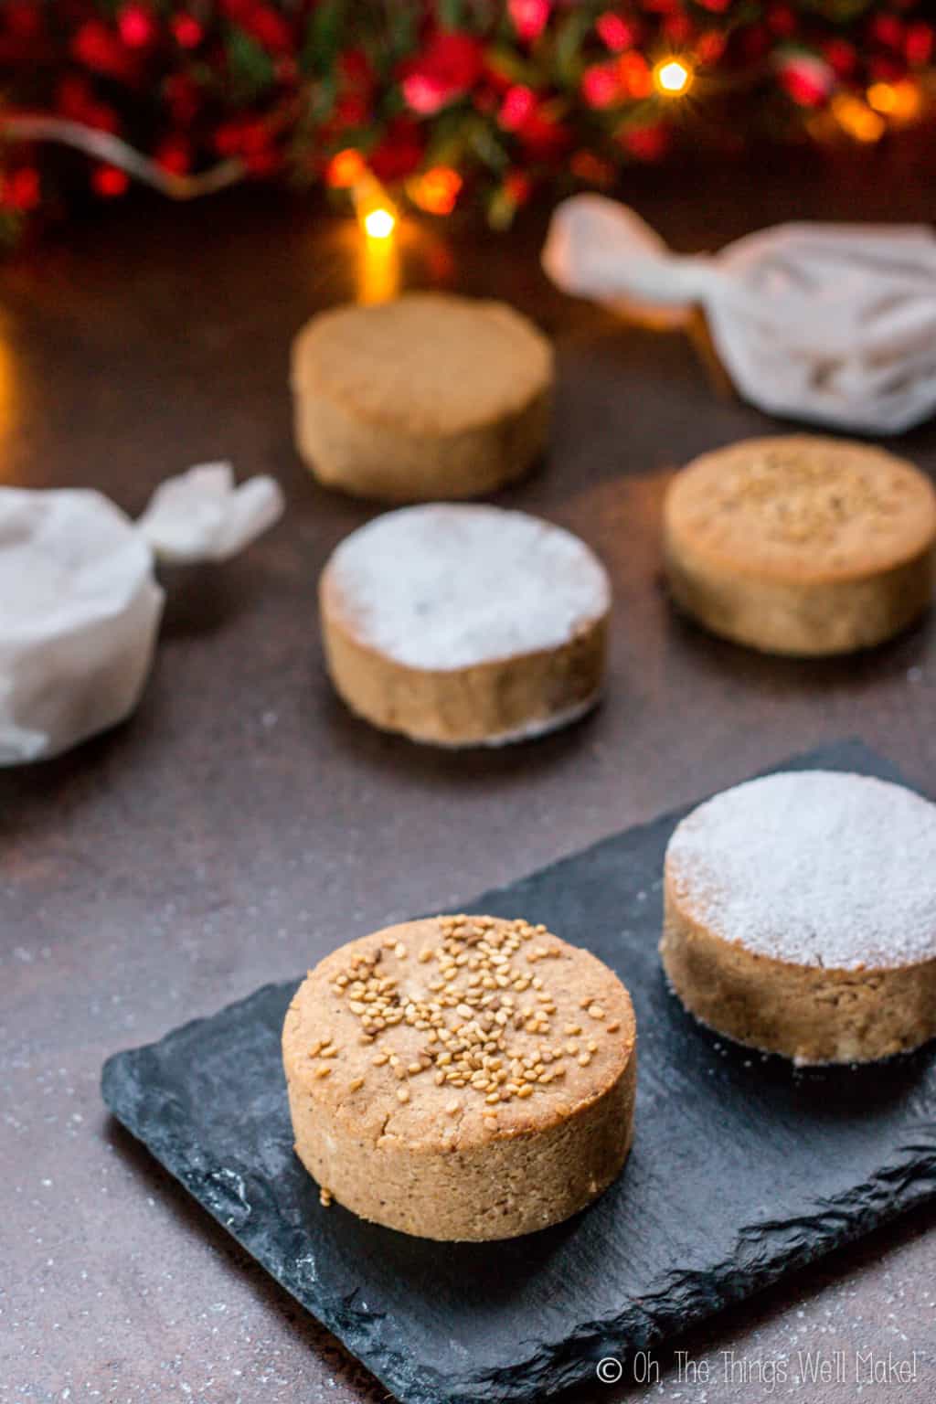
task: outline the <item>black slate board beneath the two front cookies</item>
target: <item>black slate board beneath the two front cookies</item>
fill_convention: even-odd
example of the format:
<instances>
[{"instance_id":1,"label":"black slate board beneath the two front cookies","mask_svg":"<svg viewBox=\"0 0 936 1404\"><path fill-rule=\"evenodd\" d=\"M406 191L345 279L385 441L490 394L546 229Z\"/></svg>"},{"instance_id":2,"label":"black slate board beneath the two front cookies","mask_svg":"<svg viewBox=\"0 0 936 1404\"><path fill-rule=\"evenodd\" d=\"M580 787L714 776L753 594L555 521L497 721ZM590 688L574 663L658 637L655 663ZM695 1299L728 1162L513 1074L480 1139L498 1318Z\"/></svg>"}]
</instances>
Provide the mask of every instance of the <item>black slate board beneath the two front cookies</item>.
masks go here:
<instances>
[{"instance_id":1,"label":"black slate board beneath the two front cookies","mask_svg":"<svg viewBox=\"0 0 936 1404\"><path fill-rule=\"evenodd\" d=\"M857 741L780 768L810 767L900 779ZM321 1209L292 1153L279 1061L295 981L104 1067L114 1115L406 1404L542 1400L936 1192L932 1046L796 1073L718 1042L668 993L660 873L679 817L464 903L546 922L633 994L634 1148L566 1224L439 1245Z\"/></svg>"}]
</instances>

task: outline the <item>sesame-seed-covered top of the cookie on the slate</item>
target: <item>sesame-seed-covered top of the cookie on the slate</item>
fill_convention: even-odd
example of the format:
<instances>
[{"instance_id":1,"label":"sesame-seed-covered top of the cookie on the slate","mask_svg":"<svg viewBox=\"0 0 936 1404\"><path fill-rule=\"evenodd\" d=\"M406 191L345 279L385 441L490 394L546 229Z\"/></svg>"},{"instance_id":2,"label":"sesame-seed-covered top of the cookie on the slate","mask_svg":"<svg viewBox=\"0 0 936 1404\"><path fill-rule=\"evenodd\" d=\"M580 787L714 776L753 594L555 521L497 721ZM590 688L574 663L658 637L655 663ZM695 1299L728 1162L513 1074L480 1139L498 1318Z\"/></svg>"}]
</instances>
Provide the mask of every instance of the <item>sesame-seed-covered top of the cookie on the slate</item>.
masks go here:
<instances>
[{"instance_id":1,"label":"sesame-seed-covered top of the cookie on the slate","mask_svg":"<svg viewBox=\"0 0 936 1404\"><path fill-rule=\"evenodd\" d=\"M432 917L352 941L296 991L293 1090L408 1148L533 1133L606 1092L636 1043L630 995L542 925Z\"/></svg>"}]
</instances>

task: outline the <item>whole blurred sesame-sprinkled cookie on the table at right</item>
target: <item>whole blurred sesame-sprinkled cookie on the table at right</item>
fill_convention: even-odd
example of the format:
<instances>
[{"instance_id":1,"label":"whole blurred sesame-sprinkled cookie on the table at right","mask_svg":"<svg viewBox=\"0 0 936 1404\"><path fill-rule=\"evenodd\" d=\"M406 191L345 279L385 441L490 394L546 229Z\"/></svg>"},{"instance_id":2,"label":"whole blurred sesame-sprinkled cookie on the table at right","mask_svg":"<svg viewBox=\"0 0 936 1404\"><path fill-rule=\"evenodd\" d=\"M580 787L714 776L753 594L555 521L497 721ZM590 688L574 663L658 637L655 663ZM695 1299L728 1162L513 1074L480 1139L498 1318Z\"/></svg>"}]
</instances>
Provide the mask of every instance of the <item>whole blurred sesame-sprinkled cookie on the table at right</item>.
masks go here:
<instances>
[{"instance_id":1,"label":"whole blurred sesame-sprinkled cookie on the table at right","mask_svg":"<svg viewBox=\"0 0 936 1404\"><path fill-rule=\"evenodd\" d=\"M936 493L848 439L747 439L676 473L664 508L675 604L763 653L849 653L911 625L933 590Z\"/></svg>"}]
</instances>

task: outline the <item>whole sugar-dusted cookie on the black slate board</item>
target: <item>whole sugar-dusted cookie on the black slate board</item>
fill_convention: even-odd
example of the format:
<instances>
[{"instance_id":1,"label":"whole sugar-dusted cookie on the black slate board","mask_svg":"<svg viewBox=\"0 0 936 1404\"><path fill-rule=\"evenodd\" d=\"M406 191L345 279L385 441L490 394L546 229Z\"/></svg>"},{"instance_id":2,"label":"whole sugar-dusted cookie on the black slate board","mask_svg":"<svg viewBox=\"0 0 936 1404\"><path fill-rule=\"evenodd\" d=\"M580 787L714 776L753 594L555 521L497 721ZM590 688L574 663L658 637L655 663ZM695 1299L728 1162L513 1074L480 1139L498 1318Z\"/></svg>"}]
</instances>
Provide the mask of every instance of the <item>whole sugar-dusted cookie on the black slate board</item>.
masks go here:
<instances>
[{"instance_id":1,"label":"whole sugar-dusted cookie on the black slate board","mask_svg":"<svg viewBox=\"0 0 936 1404\"><path fill-rule=\"evenodd\" d=\"M751 1047L918 1047L936 1035L936 804L832 771L716 795L669 840L660 952L689 1012Z\"/></svg>"}]
</instances>

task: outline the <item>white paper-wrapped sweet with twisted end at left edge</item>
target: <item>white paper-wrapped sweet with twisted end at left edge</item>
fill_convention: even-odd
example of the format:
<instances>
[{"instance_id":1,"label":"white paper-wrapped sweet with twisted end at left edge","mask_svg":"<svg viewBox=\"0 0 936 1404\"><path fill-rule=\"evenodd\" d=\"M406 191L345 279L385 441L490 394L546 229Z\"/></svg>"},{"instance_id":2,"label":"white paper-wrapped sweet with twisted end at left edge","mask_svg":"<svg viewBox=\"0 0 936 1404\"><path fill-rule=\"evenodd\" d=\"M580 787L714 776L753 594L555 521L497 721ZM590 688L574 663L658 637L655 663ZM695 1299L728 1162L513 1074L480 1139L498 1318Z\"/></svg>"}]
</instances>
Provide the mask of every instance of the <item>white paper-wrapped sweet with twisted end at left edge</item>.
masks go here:
<instances>
[{"instance_id":1,"label":"white paper-wrapped sweet with twisted end at left edge","mask_svg":"<svg viewBox=\"0 0 936 1404\"><path fill-rule=\"evenodd\" d=\"M0 489L0 765L59 755L139 702L163 614L154 556L223 560L279 517L227 463L157 489L139 522L84 489Z\"/></svg>"}]
</instances>

